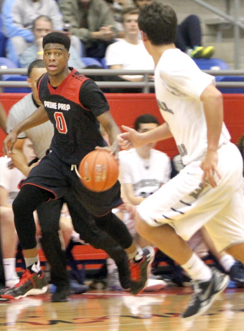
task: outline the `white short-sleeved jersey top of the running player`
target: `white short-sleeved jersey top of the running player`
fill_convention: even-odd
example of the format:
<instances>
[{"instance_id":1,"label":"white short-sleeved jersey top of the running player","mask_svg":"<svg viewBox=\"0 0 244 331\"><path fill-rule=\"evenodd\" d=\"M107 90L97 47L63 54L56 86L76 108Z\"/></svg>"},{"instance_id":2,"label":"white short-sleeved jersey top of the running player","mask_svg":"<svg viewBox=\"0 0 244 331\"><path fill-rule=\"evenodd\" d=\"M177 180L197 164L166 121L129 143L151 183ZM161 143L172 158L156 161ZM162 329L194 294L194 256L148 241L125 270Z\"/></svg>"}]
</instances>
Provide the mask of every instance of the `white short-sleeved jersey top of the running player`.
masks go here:
<instances>
[{"instance_id":1,"label":"white short-sleeved jersey top of the running player","mask_svg":"<svg viewBox=\"0 0 244 331\"><path fill-rule=\"evenodd\" d=\"M183 164L199 160L207 149L207 126L200 96L215 84L179 49L168 49L155 69L155 93L160 112L169 125ZM230 140L223 123L219 146Z\"/></svg>"}]
</instances>

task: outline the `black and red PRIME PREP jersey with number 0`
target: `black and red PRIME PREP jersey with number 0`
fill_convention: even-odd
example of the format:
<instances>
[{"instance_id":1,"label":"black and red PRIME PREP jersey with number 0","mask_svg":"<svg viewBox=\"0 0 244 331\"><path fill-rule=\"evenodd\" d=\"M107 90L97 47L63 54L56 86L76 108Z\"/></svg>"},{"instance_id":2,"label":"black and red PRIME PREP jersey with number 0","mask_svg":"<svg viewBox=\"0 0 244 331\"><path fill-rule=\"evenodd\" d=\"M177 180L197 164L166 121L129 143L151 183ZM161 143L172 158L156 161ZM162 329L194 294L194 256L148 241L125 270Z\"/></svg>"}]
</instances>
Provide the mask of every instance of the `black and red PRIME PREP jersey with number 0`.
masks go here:
<instances>
[{"instance_id":1,"label":"black and red PRIME PREP jersey with number 0","mask_svg":"<svg viewBox=\"0 0 244 331\"><path fill-rule=\"evenodd\" d=\"M42 75L37 88L39 98L54 125L50 149L65 163L79 165L96 146L106 146L97 117L109 105L96 83L75 69L53 88L48 73Z\"/></svg>"}]
</instances>

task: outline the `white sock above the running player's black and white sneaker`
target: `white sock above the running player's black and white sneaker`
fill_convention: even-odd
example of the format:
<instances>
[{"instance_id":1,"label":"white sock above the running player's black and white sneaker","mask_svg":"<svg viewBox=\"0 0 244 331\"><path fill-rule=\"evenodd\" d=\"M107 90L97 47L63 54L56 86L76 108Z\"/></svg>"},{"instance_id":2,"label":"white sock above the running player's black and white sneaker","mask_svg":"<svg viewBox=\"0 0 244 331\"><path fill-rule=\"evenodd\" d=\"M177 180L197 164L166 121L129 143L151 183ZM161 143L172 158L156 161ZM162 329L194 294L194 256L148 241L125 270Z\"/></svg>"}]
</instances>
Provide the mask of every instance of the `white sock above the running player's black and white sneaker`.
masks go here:
<instances>
[{"instance_id":1,"label":"white sock above the running player's black and white sneaker","mask_svg":"<svg viewBox=\"0 0 244 331\"><path fill-rule=\"evenodd\" d=\"M182 268L193 280L207 281L212 277L211 269L195 253Z\"/></svg>"}]
</instances>

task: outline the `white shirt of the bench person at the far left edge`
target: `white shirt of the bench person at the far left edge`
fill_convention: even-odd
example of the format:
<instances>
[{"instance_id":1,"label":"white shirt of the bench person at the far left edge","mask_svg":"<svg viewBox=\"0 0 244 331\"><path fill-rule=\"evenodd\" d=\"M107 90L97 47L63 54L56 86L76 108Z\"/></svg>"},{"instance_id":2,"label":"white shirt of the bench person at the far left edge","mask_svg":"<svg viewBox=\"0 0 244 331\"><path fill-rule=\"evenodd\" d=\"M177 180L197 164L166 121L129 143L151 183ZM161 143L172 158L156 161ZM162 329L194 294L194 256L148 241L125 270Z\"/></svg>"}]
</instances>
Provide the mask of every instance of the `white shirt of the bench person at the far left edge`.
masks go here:
<instances>
[{"instance_id":1,"label":"white shirt of the bench person at the far left edge","mask_svg":"<svg viewBox=\"0 0 244 331\"><path fill-rule=\"evenodd\" d=\"M8 203L12 205L18 192L18 184L21 179L25 178L22 172L17 169L9 169L8 163L10 159L5 157L0 158L0 186L2 186L8 192Z\"/></svg>"}]
</instances>

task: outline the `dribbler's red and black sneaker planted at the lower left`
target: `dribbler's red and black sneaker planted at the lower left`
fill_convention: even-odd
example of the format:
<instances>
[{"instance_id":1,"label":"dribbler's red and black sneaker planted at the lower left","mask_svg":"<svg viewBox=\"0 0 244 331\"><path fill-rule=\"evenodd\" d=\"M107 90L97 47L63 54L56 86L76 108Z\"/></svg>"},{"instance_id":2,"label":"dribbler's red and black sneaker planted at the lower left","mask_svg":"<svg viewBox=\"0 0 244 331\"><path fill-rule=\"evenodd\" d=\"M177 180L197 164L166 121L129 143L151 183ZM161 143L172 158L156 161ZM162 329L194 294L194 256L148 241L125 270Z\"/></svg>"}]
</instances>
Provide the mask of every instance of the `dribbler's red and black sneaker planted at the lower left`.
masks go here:
<instances>
[{"instance_id":1,"label":"dribbler's red and black sneaker planted at the lower left","mask_svg":"<svg viewBox=\"0 0 244 331\"><path fill-rule=\"evenodd\" d=\"M0 300L18 300L27 295L39 295L47 291L47 282L43 272L24 271L19 283L0 294Z\"/></svg>"}]
</instances>

